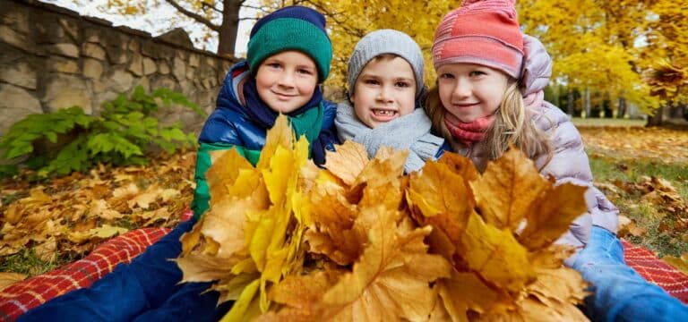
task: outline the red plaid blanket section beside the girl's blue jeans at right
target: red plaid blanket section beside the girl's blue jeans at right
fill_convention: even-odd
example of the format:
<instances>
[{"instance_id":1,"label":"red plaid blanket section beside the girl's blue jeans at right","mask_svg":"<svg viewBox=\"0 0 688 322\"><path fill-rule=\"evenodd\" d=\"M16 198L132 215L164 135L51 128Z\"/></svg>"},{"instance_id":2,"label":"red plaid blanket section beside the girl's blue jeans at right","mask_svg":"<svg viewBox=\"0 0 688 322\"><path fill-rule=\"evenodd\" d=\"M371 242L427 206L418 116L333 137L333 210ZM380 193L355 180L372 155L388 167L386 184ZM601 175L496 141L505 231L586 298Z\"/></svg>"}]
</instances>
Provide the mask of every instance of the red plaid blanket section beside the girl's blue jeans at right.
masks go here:
<instances>
[{"instance_id":1,"label":"red plaid blanket section beside the girl's blue jeans at right","mask_svg":"<svg viewBox=\"0 0 688 322\"><path fill-rule=\"evenodd\" d=\"M671 296L688 304L688 276L657 258L654 253L628 241L624 244L626 264L635 269L648 282L658 284Z\"/></svg>"}]
</instances>

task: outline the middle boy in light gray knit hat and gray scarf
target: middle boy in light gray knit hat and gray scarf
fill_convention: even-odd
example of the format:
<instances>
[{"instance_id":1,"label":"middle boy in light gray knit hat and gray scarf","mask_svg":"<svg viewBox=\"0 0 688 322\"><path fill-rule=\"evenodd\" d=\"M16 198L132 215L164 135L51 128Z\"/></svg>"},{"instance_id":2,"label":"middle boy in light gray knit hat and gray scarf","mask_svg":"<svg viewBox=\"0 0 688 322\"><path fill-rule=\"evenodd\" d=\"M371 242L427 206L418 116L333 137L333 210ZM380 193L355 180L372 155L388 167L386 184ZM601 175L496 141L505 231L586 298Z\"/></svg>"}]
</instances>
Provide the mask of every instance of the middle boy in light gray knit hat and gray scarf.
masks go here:
<instances>
[{"instance_id":1,"label":"middle boy in light gray knit hat and gray scarf","mask_svg":"<svg viewBox=\"0 0 688 322\"><path fill-rule=\"evenodd\" d=\"M424 61L416 41L397 30L375 30L358 41L348 61L349 100L337 106L340 140L363 144L370 157L381 146L409 150L404 170L420 170L444 140L420 106Z\"/></svg>"}]
</instances>

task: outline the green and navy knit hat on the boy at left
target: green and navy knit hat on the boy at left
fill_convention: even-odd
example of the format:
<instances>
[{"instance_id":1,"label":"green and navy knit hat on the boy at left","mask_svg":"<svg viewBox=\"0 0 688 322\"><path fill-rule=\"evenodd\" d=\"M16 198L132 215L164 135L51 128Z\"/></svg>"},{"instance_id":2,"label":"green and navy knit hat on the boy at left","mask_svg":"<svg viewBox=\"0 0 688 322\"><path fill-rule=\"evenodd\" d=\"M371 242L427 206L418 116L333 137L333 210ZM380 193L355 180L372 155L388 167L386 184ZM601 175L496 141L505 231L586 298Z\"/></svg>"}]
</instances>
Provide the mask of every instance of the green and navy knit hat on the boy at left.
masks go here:
<instances>
[{"instance_id":1,"label":"green and navy knit hat on the boy at left","mask_svg":"<svg viewBox=\"0 0 688 322\"><path fill-rule=\"evenodd\" d=\"M294 5L262 17L251 30L246 61L255 72L263 60L287 50L311 57L318 68L318 82L326 80L330 74L332 45L323 14Z\"/></svg>"}]
</instances>

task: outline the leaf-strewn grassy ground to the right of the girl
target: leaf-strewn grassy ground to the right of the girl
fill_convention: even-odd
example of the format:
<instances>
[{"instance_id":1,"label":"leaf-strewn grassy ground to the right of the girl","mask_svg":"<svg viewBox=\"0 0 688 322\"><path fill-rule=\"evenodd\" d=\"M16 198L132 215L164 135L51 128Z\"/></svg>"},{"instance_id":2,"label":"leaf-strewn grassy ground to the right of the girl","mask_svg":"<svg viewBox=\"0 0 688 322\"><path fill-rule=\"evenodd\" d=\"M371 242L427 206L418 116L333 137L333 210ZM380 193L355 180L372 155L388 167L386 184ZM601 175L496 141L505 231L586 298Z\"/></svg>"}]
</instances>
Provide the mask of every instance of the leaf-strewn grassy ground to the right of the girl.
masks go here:
<instances>
[{"instance_id":1,"label":"leaf-strewn grassy ground to the right of the girl","mask_svg":"<svg viewBox=\"0 0 688 322\"><path fill-rule=\"evenodd\" d=\"M688 131L579 130L596 185L621 210L619 235L688 274Z\"/></svg>"}]
</instances>

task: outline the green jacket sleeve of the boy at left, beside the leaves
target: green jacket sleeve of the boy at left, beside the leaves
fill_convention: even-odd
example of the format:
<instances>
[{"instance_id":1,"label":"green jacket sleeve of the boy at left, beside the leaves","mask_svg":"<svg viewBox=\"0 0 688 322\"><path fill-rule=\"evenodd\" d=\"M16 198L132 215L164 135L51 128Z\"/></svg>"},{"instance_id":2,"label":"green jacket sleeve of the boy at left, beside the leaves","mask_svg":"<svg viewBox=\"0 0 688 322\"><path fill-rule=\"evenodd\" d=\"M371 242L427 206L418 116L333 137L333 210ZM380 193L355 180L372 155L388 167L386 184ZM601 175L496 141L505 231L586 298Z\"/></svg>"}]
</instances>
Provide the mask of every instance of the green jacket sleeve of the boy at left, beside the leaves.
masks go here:
<instances>
[{"instance_id":1,"label":"green jacket sleeve of the boy at left, beside the leaves","mask_svg":"<svg viewBox=\"0 0 688 322\"><path fill-rule=\"evenodd\" d=\"M245 157L251 165L258 163L261 151L236 146L227 143L201 143L196 155L196 174L193 180L196 182L196 189L193 191L193 201L191 209L193 218L200 219L202 214L211 207L211 191L206 180L205 173L211 168L211 152L223 149L236 148L240 156Z\"/></svg>"}]
</instances>

